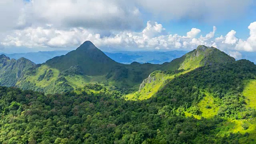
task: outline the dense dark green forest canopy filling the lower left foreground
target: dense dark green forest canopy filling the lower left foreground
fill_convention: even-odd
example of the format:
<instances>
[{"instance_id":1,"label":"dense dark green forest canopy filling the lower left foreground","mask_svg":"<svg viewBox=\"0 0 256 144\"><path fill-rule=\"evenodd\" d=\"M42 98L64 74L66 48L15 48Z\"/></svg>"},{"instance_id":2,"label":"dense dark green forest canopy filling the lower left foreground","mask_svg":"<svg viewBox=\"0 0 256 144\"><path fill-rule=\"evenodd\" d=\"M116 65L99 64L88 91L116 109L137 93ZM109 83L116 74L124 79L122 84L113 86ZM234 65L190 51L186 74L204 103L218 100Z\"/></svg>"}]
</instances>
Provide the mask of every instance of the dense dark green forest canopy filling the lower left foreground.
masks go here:
<instances>
[{"instance_id":1,"label":"dense dark green forest canopy filling the lower left foreground","mask_svg":"<svg viewBox=\"0 0 256 144\"><path fill-rule=\"evenodd\" d=\"M176 116L169 106L113 100L105 94L54 94L0 87L1 143L193 142L221 122Z\"/></svg>"}]
</instances>

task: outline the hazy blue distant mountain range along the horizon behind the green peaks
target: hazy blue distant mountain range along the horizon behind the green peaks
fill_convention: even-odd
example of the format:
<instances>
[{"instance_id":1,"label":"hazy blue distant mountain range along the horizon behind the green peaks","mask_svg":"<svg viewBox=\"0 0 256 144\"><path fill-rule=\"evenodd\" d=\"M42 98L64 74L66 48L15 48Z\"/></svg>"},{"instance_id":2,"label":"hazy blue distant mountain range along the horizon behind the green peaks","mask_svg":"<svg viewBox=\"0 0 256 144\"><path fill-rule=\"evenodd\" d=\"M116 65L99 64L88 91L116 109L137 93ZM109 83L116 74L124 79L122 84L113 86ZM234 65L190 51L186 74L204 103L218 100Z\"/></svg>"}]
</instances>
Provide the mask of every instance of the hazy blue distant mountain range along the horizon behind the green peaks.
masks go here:
<instances>
[{"instance_id":1,"label":"hazy blue distant mountain range along the horizon behind the green peaks","mask_svg":"<svg viewBox=\"0 0 256 144\"><path fill-rule=\"evenodd\" d=\"M28 53L14 53L14 54L4 54L11 59L14 58L18 60L19 58L27 58L35 64L42 64L55 56L61 56L67 54L68 50L56 50L56 51L40 51L40 52L28 52ZM151 64L163 64L164 62L171 62L174 58L179 58L186 54L186 51L114 51L114 52L104 52L112 60L122 63L131 64L132 62L139 63L151 63ZM256 63L256 52L241 52L242 59L250 60Z\"/></svg>"}]
</instances>

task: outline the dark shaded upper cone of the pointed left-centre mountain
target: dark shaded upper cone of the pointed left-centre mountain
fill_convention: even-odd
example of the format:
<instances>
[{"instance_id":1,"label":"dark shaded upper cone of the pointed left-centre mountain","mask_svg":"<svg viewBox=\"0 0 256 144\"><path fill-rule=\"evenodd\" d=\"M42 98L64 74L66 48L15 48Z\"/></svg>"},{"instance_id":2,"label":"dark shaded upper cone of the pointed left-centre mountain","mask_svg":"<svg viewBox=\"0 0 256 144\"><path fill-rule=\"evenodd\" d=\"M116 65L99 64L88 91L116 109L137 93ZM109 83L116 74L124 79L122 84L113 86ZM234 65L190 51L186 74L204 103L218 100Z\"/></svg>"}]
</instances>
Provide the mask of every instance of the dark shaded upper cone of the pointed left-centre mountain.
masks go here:
<instances>
[{"instance_id":1,"label":"dark shaded upper cone of the pointed left-centre mountain","mask_svg":"<svg viewBox=\"0 0 256 144\"><path fill-rule=\"evenodd\" d=\"M115 62L90 41L84 42L76 50L63 56L47 60L46 65L60 70L67 70L71 66L80 66L84 74L89 76L104 75L119 63Z\"/></svg>"}]
</instances>

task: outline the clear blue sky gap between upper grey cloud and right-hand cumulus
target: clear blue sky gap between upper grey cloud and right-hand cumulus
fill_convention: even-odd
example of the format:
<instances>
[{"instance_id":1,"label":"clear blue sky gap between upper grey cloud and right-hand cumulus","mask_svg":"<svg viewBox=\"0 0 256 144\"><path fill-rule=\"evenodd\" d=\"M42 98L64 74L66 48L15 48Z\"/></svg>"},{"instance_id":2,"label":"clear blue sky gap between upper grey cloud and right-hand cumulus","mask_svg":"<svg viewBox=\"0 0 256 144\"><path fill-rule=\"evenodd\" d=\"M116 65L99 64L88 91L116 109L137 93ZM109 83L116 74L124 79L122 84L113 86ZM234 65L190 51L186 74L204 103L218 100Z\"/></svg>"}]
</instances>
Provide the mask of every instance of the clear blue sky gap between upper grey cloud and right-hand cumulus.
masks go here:
<instances>
[{"instance_id":1,"label":"clear blue sky gap between upper grey cloud and right-hand cumulus","mask_svg":"<svg viewBox=\"0 0 256 144\"><path fill-rule=\"evenodd\" d=\"M256 4L255 0L252 2ZM248 24L256 21L256 6L250 5L247 7L243 16L236 18L218 20L215 22L198 22L197 20L163 20L152 16L152 14L145 13L144 22L147 20L153 20L161 23L168 32L177 33L180 35L186 35L191 28L199 28L202 30L202 34L207 34L212 30L212 26L218 28L216 36L225 35L230 30L236 30L237 37L246 39L249 36Z\"/></svg>"}]
</instances>

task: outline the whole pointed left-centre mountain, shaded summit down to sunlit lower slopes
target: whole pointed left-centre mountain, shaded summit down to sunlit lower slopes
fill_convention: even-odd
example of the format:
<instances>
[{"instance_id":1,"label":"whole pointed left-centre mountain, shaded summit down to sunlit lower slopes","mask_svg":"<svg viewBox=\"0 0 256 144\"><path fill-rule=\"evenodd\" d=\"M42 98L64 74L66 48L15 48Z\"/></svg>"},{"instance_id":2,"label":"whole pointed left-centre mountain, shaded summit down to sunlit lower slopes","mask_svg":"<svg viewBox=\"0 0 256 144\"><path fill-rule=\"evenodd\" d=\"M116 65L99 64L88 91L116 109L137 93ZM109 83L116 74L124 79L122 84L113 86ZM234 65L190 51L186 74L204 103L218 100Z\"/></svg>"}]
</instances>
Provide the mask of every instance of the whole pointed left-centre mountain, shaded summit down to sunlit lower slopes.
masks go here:
<instances>
[{"instance_id":1,"label":"whole pointed left-centre mountain, shaded summit down to sunlit lower slopes","mask_svg":"<svg viewBox=\"0 0 256 144\"><path fill-rule=\"evenodd\" d=\"M90 41L64 56L33 66L16 83L22 89L46 93L67 92L98 82L106 86L136 90L159 64L120 64L108 58Z\"/></svg>"}]
</instances>

